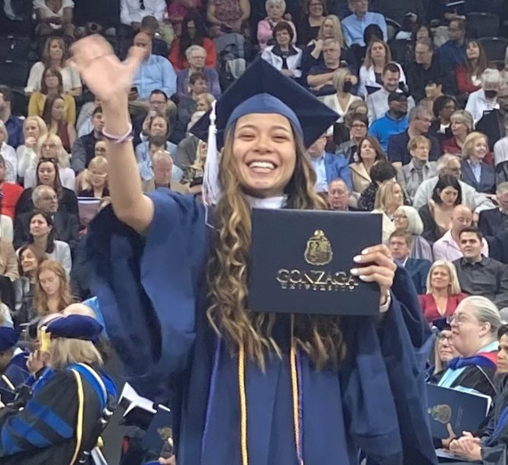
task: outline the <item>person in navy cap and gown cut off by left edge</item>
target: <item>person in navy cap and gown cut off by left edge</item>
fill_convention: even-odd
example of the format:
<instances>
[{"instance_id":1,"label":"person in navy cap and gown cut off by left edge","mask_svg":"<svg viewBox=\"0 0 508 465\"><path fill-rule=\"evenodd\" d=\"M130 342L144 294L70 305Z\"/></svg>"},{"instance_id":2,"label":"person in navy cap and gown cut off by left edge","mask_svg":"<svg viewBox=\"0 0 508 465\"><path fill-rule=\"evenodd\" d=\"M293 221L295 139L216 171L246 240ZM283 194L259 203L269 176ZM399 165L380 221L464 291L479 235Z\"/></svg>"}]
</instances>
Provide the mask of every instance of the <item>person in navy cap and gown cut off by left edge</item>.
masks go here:
<instances>
[{"instance_id":1,"label":"person in navy cap and gown cut off by left edge","mask_svg":"<svg viewBox=\"0 0 508 465\"><path fill-rule=\"evenodd\" d=\"M0 399L12 402L14 391L29 378L28 353L17 348L20 331L0 327Z\"/></svg>"}]
</instances>

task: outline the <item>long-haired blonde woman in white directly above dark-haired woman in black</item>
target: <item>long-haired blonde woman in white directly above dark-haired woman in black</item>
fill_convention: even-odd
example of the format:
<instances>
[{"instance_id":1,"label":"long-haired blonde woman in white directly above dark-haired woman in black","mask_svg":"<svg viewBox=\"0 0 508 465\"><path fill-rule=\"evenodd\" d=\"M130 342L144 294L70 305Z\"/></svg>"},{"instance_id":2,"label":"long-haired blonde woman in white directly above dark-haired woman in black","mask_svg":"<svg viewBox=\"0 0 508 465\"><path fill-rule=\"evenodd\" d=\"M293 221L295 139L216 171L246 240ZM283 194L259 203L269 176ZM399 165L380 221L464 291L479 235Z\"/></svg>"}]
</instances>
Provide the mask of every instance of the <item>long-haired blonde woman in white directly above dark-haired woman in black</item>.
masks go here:
<instances>
[{"instance_id":1,"label":"long-haired blonde woman in white directly above dark-haired woman in black","mask_svg":"<svg viewBox=\"0 0 508 465\"><path fill-rule=\"evenodd\" d=\"M37 140L35 158L27 167L24 175L24 187L29 189L37 185L37 165L41 159L52 159L58 163L58 172L61 185L67 189L74 190L76 174L69 167L69 153L61 144L61 138L54 134L45 134Z\"/></svg>"}]
</instances>

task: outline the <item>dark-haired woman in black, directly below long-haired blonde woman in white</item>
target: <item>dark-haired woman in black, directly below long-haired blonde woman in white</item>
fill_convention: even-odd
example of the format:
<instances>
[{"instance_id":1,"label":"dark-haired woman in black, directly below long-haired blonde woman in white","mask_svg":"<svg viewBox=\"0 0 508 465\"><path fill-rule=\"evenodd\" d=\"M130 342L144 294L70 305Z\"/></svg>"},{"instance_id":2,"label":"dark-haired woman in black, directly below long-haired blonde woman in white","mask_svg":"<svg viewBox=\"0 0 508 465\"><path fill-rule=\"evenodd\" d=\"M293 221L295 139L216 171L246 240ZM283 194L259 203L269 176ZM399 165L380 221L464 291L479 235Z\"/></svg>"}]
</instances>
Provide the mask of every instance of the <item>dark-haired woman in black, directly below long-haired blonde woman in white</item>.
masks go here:
<instances>
[{"instance_id":1,"label":"dark-haired woman in black, directly below long-haired blonde woman in white","mask_svg":"<svg viewBox=\"0 0 508 465\"><path fill-rule=\"evenodd\" d=\"M58 195L58 209L70 215L78 216L78 198L76 193L62 187L60 178L60 169L56 159L39 159L37 163L36 185L45 184L53 188ZM32 188L25 189L20 196L20 200L16 205L16 216L21 213L27 213L34 209L32 201Z\"/></svg>"}]
</instances>

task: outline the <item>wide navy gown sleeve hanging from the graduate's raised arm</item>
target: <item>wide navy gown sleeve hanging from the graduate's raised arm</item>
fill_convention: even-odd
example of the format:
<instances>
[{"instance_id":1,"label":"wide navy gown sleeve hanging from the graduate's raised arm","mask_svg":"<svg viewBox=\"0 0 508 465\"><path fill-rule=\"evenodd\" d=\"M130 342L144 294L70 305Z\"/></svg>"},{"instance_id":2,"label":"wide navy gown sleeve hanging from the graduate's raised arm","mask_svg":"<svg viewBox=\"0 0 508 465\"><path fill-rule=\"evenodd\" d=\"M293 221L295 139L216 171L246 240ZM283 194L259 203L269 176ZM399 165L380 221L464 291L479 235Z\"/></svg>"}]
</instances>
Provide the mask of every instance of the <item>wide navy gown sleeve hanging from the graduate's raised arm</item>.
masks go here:
<instances>
[{"instance_id":1,"label":"wide navy gown sleeve hanging from the graduate's raised arm","mask_svg":"<svg viewBox=\"0 0 508 465\"><path fill-rule=\"evenodd\" d=\"M193 196L159 189L150 197L146 237L104 208L91 224L87 254L91 289L127 380L155 400L166 398L172 376L188 368L207 228Z\"/></svg>"}]
</instances>

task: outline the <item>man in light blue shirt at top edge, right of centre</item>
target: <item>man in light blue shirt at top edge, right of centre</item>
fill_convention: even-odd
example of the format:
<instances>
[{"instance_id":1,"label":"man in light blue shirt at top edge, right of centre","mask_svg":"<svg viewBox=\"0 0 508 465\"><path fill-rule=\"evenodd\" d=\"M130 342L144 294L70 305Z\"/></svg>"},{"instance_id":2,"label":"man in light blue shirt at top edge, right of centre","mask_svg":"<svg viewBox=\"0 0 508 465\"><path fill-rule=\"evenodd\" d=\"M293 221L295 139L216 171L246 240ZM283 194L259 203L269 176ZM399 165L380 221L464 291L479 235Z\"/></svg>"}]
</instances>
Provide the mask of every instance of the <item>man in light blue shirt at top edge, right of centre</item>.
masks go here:
<instances>
[{"instance_id":1,"label":"man in light blue shirt at top edge, right of centre","mask_svg":"<svg viewBox=\"0 0 508 465\"><path fill-rule=\"evenodd\" d=\"M365 46L365 28L371 24L377 24L383 33L383 39L388 40L386 20L380 13L369 12L368 0L348 0L349 9L353 14L342 20L346 44Z\"/></svg>"}]
</instances>

